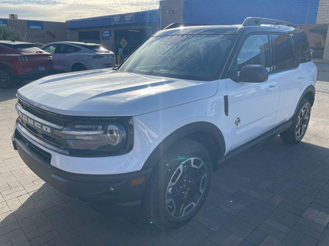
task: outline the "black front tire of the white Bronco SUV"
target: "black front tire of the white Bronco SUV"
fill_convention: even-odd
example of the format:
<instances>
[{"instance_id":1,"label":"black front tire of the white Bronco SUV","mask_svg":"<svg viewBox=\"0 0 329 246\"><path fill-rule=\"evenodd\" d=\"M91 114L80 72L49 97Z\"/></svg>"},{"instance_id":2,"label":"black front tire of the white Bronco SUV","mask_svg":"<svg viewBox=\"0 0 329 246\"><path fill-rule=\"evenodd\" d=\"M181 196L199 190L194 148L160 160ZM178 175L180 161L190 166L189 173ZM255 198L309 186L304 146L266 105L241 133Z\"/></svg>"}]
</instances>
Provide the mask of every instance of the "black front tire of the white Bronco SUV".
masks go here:
<instances>
[{"instance_id":1,"label":"black front tire of the white Bronco SUV","mask_svg":"<svg viewBox=\"0 0 329 246\"><path fill-rule=\"evenodd\" d=\"M192 163L195 163L193 166L198 166L199 168L193 168ZM182 174L178 176L177 170L179 169L179 167L181 167ZM189 179L190 176L193 176L191 175L191 170L193 173L196 173L194 174L194 176L197 175L197 177L195 179L192 178L192 181L187 180L186 182L184 182L186 179ZM204 170L206 170L206 172L204 172ZM186 173L189 173L189 176L184 176ZM198 210L202 207L207 197L210 188L211 173L212 158L203 145L189 139L184 139L177 142L177 144L172 146L170 150L167 151L164 156L162 156L161 161L159 161L158 165L155 167L155 170L150 178L149 186L143 204L147 219L150 222L155 223L156 226L161 229L178 228L190 221L198 212ZM198 180L198 176L202 176L199 179L200 181L195 181L194 183L193 180ZM175 184L170 188L170 181L172 181L173 178L176 177L177 179L175 183L177 185ZM180 186L180 181L187 183L187 188L182 188ZM188 183L188 181L191 182ZM181 192L184 190L181 189L185 189L185 191L187 191L189 190L188 187L191 188L191 190L188 191L190 192L190 194L187 193L187 198L184 199L184 202L180 205L180 210L177 211L178 214L180 213L180 211L182 211L181 214L184 214L183 217L175 217L175 212L172 212L173 210L171 211L172 214L170 214L169 212L169 208L173 208L173 203L167 203L167 194L169 194L169 190L171 193L172 190L176 189L174 188L176 186L177 188L180 186L180 190L178 192L174 191L179 196L183 196L181 195ZM198 189L197 192L192 192L192 190L196 189ZM203 190L203 193L201 190ZM192 194L194 195L192 196ZM175 196L175 199L178 199L178 201L182 202L182 200L179 200L179 196ZM185 202L187 203L187 205L185 204ZM193 202L195 204L192 204ZM188 207L188 204L191 204L193 208L191 206Z\"/></svg>"}]
</instances>

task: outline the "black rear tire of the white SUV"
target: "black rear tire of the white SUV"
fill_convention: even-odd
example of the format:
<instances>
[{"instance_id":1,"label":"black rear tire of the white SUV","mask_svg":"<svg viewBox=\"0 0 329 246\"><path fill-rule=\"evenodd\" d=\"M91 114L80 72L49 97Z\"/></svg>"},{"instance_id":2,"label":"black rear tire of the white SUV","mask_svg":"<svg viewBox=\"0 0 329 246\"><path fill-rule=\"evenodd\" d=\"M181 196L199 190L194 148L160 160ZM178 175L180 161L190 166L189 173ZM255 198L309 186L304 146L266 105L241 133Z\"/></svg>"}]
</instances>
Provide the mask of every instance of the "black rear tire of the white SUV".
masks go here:
<instances>
[{"instance_id":1,"label":"black rear tire of the white SUV","mask_svg":"<svg viewBox=\"0 0 329 246\"><path fill-rule=\"evenodd\" d=\"M303 115L303 109L307 110L307 112L304 111L305 115ZM310 111L311 111L310 102L306 97L304 97L300 105L298 106L296 115L293 118L293 123L287 130L285 130L280 134L282 141L284 141L286 144L289 145L295 145L298 144L303 139L308 127ZM307 119L305 121L304 118L306 114L307 114ZM300 118L303 118L303 120L300 120Z\"/></svg>"}]
</instances>

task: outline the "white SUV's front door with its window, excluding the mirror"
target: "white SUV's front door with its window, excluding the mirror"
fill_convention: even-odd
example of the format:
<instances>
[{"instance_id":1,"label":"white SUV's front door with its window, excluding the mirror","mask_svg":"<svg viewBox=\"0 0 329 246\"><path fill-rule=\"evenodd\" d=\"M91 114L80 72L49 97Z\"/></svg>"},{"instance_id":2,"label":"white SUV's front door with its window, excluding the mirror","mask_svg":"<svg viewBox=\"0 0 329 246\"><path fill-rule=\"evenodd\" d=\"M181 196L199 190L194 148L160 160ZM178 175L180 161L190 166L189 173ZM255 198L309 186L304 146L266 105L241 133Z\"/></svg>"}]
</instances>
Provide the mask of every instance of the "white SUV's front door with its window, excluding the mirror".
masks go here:
<instances>
[{"instance_id":1,"label":"white SUV's front door with its window, excluding the mirror","mask_svg":"<svg viewBox=\"0 0 329 246\"><path fill-rule=\"evenodd\" d=\"M269 74L263 83L239 81L240 70L248 64L271 66L269 36L253 34L246 38L234 61L236 77L226 79L228 94L229 150L267 132L276 125L280 90L278 74ZM235 73L234 72L234 73Z\"/></svg>"}]
</instances>

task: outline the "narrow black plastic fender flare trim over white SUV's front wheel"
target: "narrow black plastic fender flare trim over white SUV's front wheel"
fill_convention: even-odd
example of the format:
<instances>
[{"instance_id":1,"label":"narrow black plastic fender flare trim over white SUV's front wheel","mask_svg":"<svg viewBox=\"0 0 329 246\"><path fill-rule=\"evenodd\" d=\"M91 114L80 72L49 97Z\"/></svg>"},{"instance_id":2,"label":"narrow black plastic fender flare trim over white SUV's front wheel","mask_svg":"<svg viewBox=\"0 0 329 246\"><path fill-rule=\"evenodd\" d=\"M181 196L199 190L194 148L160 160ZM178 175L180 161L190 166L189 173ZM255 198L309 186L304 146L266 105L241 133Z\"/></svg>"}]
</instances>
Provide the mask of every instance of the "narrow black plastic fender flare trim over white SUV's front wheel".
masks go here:
<instances>
[{"instance_id":1,"label":"narrow black plastic fender flare trim over white SUV's front wheel","mask_svg":"<svg viewBox=\"0 0 329 246\"><path fill-rule=\"evenodd\" d=\"M154 167L160 160L163 153L165 153L171 146L173 146L175 142L191 135L192 133L197 132L206 132L211 134L216 139L217 144L220 146L220 150L217 151L218 156L224 156L226 152L226 145L221 130L210 122L198 121L178 128L169 134L165 139L163 139L145 161L142 170Z\"/></svg>"}]
</instances>

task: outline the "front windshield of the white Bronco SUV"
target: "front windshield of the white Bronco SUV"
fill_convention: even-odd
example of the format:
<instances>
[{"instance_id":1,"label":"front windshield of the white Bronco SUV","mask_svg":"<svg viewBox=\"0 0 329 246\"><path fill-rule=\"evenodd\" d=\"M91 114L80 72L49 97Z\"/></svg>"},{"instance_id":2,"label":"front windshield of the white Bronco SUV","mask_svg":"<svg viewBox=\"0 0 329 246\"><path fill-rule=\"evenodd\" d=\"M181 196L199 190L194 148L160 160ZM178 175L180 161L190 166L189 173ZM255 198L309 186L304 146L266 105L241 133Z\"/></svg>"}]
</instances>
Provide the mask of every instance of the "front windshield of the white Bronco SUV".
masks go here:
<instances>
[{"instance_id":1,"label":"front windshield of the white Bronco SUV","mask_svg":"<svg viewBox=\"0 0 329 246\"><path fill-rule=\"evenodd\" d=\"M235 35L153 36L119 70L184 79L217 79L235 38Z\"/></svg>"}]
</instances>

